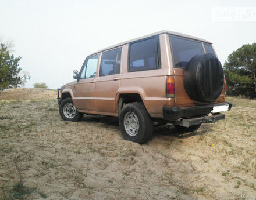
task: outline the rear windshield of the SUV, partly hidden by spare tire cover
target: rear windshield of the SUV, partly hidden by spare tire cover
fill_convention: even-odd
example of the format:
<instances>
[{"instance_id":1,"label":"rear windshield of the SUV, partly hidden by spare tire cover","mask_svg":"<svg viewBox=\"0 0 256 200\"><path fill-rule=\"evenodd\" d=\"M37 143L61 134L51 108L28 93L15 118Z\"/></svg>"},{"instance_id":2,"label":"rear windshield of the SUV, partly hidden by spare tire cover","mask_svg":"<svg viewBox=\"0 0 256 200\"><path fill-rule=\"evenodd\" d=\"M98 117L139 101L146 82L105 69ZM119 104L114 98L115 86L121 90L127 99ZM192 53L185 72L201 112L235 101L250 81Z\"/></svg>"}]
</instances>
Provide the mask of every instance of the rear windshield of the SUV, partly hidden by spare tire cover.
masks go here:
<instances>
[{"instance_id":1,"label":"rear windshield of the SUV, partly hidden by spare tire cover","mask_svg":"<svg viewBox=\"0 0 256 200\"><path fill-rule=\"evenodd\" d=\"M173 36L169 36L169 38L175 67L186 67L192 57L204 53L201 42Z\"/></svg>"}]
</instances>

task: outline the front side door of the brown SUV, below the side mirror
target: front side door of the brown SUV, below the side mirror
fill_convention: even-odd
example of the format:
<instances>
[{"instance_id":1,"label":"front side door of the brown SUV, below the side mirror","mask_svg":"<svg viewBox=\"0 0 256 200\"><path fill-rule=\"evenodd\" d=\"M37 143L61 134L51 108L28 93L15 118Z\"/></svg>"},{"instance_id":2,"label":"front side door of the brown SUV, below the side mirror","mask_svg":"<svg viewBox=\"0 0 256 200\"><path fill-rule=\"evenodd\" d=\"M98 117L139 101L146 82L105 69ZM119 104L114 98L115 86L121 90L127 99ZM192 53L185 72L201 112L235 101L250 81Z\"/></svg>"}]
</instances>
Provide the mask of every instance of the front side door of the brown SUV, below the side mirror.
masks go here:
<instances>
[{"instance_id":1,"label":"front side door of the brown SUV, below the side mirror","mask_svg":"<svg viewBox=\"0 0 256 200\"><path fill-rule=\"evenodd\" d=\"M98 54L88 57L81 68L79 82L73 86L73 102L79 110L96 110L94 92L97 64Z\"/></svg>"}]
</instances>

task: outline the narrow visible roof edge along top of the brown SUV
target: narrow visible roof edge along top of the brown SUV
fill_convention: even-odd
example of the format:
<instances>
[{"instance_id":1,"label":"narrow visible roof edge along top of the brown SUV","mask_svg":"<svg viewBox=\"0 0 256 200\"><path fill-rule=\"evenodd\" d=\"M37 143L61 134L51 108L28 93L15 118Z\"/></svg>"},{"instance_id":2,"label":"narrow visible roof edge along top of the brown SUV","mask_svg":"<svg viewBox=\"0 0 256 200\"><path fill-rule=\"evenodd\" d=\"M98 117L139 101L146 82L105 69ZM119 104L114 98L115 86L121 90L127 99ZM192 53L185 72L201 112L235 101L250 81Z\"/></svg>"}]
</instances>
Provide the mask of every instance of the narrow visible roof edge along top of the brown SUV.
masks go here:
<instances>
[{"instance_id":1,"label":"narrow visible roof edge along top of the brown SUV","mask_svg":"<svg viewBox=\"0 0 256 200\"><path fill-rule=\"evenodd\" d=\"M176 36L179 36L179 37L184 37L184 38L189 38L189 39L194 39L194 40L197 40L197 41L200 41L200 42L207 42L207 43L210 43L212 44L211 42L205 40L205 39L202 39L202 38L197 38L197 37L194 37L194 36L191 36L191 35L186 35L186 34L182 34L180 32L174 32L174 31L158 31L158 32L154 32L152 34L148 34L148 35L144 35L142 37L138 37L138 38L134 38L134 39L130 39L129 41L125 41L125 42L121 42L121 43L118 43L116 45L112 45L112 46L109 46L107 48L104 48L104 49L101 49L101 50L98 50L97 52L94 52L92 54L90 54L90 56L96 54L96 53L99 53L99 52L104 52L105 50L108 50L108 49L113 49L113 48L116 48L118 46L122 46L122 45L125 45L127 43L130 43L130 42L135 42L135 41L138 41L140 39L144 39L144 38L148 38L148 37L153 37L155 35L160 35L160 34L171 34L171 35L176 35Z\"/></svg>"}]
</instances>

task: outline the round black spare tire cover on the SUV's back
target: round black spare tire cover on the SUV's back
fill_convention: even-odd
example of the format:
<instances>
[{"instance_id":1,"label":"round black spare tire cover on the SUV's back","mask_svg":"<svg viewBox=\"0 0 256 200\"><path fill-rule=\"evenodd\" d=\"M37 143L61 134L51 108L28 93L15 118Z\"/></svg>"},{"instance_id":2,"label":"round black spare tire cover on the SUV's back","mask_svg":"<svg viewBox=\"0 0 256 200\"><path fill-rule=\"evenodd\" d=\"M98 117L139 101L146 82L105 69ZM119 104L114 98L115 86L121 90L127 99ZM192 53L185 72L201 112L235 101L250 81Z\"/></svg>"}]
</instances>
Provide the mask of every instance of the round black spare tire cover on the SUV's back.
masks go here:
<instances>
[{"instance_id":1,"label":"round black spare tire cover on the SUV's back","mask_svg":"<svg viewBox=\"0 0 256 200\"><path fill-rule=\"evenodd\" d=\"M224 84L221 62L211 53L194 56L184 70L183 84L191 99L201 102L215 101Z\"/></svg>"}]
</instances>

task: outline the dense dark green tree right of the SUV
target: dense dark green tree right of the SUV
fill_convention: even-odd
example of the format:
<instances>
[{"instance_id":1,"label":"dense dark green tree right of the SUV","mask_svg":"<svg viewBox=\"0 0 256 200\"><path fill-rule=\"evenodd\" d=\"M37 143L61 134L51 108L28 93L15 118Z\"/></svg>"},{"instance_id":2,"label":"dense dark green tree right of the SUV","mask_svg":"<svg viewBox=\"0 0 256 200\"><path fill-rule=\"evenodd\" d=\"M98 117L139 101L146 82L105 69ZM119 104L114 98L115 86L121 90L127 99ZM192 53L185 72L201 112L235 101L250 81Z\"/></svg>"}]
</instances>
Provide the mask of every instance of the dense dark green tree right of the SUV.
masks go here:
<instances>
[{"instance_id":1,"label":"dense dark green tree right of the SUV","mask_svg":"<svg viewBox=\"0 0 256 200\"><path fill-rule=\"evenodd\" d=\"M256 43L241 46L224 64L227 94L256 97Z\"/></svg>"}]
</instances>

